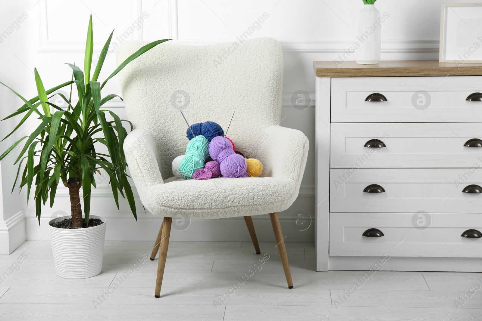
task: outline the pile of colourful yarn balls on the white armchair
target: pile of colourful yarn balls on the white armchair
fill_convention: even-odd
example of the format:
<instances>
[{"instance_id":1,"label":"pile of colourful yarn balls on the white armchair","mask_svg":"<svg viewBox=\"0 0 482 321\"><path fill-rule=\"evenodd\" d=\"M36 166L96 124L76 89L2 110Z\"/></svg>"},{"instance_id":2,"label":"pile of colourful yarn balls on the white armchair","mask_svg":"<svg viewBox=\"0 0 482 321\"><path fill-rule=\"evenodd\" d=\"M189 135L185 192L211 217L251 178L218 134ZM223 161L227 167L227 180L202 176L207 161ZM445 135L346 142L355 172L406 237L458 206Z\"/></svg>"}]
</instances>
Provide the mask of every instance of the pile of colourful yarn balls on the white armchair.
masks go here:
<instances>
[{"instance_id":1,"label":"pile of colourful yarn balls on the white armchair","mask_svg":"<svg viewBox=\"0 0 482 321\"><path fill-rule=\"evenodd\" d=\"M257 159L246 158L235 151L234 142L224 137L224 130L217 123L207 121L191 125L196 135L187 128L189 139L186 154L174 158L173 174L177 178L209 180L216 177L257 177L263 172L263 164ZM213 160L206 161L211 157Z\"/></svg>"}]
</instances>

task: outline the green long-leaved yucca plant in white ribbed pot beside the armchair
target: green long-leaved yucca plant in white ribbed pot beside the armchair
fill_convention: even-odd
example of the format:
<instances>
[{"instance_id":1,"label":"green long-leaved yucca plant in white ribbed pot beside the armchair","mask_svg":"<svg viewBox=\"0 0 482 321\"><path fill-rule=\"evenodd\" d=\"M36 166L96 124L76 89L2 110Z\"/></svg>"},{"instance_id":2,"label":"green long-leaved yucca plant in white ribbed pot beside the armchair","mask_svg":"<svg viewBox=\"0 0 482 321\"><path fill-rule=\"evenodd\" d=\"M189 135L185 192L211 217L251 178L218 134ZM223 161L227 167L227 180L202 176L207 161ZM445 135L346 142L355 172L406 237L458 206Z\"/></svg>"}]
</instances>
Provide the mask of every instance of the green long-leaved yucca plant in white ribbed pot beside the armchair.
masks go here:
<instances>
[{"instance_id":1,"label":"green long-leaved yucca plant in white ribbed pot beside the armchair","mask_svg":"<svg viewBox=\"0 0 482 321\"><path fill-rule=\"evenodd\" d=\"M64 278L88 278L99 274L102 270L106 220L90 216L91 189L92 186L96 188L94 175L101 174L102 170L104 175L108 176L117 207L119 208L118 193L120 193L122 197L127 198L134 218L137 220L134 196L127 180L127 165L122 147L127 135L122 125L130 122L120 119L111 111L101 109L104 103L118 97L110 94L101 98L101 90L107 81L125 65L169 39L151 42L134 52L101 84L97 79L107 56L113 33L114 31L107 39L93 73L91 73L91 66L94 41L91 15L83 72L79 66L68 64L72 68L72 78L45 90L40 75L35 69L35 83L39 95L30 100L26 100L0 82L24 102L24 105L12 115L2 119L25 114L5 138L11 136L31 117L37 117L40 122L32 134L21 137L0 155L1 160L14 149L16 150L17 145L24 143L14 163L18 165L18 169L13 188L17 182L20 189L26 186L27 201L30 193L33 192L39 224L41 206L47 201L50 207L54 205L58 185L63 184L69 191L71 217L57 218L49 222L55 270L57 275ZM78 97L75 104L72 102L74 86ZM70 87L68 97L62 93L56 93L64 87ZM59 95L65 103L49 102L51 94ZM108 120L108 117L111 120ZM107 152L99 152L100 145L105 145ZM80 188L83 194L83 217Z\"/></svg>"}]
</instances>

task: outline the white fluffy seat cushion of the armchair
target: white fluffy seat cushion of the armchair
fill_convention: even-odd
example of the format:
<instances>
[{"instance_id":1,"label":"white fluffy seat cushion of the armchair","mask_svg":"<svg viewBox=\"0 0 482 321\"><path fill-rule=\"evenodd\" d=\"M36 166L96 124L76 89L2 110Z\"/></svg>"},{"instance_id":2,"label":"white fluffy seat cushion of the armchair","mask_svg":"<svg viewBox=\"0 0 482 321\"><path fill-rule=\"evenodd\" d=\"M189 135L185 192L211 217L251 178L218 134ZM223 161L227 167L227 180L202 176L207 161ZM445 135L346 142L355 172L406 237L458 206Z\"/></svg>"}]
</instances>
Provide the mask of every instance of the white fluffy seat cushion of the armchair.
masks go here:
<instances>
[{"instance_id":1,"label":"white fluffy seat cushion of the armchair","mask_svg":"<svg viewBox=\"0 0 482 321\"><path fill-rule=\"evenodd\" d=\"M229 218L286 210L298 195L294 180L272 177L183 180L171 177L149 187L155 215Z\"/></svg>"}]
</instances>

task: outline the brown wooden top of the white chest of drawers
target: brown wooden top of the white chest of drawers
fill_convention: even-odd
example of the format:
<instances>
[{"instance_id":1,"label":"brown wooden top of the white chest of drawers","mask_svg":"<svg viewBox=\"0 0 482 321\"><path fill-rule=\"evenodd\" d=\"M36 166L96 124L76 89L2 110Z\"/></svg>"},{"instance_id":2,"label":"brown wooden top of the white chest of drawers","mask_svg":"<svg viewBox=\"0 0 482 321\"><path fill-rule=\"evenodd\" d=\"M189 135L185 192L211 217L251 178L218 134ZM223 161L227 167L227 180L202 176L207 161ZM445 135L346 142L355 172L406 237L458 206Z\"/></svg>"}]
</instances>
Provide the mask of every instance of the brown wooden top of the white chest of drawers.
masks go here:
<instances>
[{"instance_id":1,"label":"brown wooden top of the white chest of drawers","mask_svg":"<svg viewBox=\"0 0 482 321\"><path fill-rule=\"evenodd\" d=\"M316 77L482 76L482 64L439 63L438 60L380 61L378 64L315 61L313 68Z\"/></svg>"}]
</instances>

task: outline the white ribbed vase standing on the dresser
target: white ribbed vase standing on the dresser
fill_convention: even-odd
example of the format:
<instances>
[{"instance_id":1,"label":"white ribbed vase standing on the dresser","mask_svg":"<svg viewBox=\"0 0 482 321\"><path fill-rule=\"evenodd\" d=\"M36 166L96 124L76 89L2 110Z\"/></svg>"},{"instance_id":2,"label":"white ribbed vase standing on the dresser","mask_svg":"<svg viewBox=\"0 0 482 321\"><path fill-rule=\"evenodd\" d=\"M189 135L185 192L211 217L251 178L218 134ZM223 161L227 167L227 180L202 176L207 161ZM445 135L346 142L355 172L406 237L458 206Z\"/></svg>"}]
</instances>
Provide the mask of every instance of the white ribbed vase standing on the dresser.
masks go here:
<instances>
[{"instance_id":1,"label":"white ribbed vase standing on the dresser","mask_svg":"<svg viewBox=\"0 0 482 321\"><path fill-rule=\"evenodd\" d=\"M374 4L364 4L357 14L357 64L378 64L381 49L380 12Z\"/></svg>"}]
</instances>

